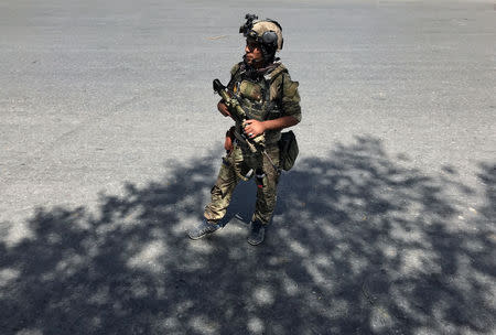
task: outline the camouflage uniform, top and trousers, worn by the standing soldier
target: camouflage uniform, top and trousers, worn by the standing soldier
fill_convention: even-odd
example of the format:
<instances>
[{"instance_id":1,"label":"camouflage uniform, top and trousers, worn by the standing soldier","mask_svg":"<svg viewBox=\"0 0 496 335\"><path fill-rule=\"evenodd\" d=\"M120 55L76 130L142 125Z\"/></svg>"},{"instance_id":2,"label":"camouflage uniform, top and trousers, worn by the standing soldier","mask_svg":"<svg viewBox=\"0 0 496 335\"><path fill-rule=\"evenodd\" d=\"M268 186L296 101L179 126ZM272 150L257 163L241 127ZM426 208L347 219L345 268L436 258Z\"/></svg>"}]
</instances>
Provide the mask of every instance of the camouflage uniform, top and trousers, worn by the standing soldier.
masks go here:
<instances>
[{"instance_id":1,"label":"camouflage uniform, top and trousers, worn by the standing soldier","mask_svg":"<svg viewBox=\"0 0 496 335\"><path fill-rule=\"evenodd\" d=\"M228 89L238 96L239 101L248 115L248 119L258 121L292 116L301 120L300 95L298 82L292 82L287 68L274 62L262 71L247 71L241 62L231 69ZM265 176L257 183L257 203L252 221L269 224L276 207L277 185L279 173L278 141L280 130L266 131L266 152L251 153L242 139L240 123L235 127L235 145L233 151L223 160L217 182L212 188L212 201L205 207L204 216L211 223L218 223L226 214L233 192L246 173L252 169L261 169Z\"/></svg>"}]
</instances>

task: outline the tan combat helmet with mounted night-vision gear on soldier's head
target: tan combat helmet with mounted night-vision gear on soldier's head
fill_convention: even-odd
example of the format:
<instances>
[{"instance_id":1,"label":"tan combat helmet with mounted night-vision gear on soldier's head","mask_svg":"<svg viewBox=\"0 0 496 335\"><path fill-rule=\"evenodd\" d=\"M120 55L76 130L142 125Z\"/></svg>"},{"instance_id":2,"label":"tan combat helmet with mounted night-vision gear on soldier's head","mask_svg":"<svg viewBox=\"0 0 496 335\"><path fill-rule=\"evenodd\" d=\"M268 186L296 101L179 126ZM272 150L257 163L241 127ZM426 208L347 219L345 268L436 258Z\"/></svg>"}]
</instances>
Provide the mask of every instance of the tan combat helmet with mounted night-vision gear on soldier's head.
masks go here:
<instances>
[{"instance_id":1,"label":"tan combat helmet with mounted night-vision gear on soldier's head","mask_svg":"<svg viewBox=\"0 0 496 335\"><path fill-rule=\"evenodd\" d=\"M260 44L266 61L273 61L276 52L282 50L282 28L270 19L258 20L255 14L246 14L246 23L239 28L239 33Z\"/></svg>"}]
</instances>

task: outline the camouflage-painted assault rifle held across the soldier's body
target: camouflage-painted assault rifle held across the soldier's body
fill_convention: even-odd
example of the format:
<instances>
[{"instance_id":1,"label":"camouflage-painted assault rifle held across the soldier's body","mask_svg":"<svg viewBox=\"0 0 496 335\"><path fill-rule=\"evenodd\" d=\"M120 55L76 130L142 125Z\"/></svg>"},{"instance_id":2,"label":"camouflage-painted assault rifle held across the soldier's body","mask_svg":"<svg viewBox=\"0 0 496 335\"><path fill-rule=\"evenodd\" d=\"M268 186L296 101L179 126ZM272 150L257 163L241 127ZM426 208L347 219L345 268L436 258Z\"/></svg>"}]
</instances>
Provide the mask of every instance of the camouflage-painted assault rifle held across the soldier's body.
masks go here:
<instances>
[{"instance_id":1,"label":"camouflage-painted assault rifle held across the soldier's body","mask_svg":"<svg viewBox=\"0 0 496 335\"><path fill-rule=\"evenodd\" d=\"M227 106L227 109L229 110L230 116L236 121L241 123L244 130L241 136L246 140L250 151L254 153L257 152L258 150L263 151L266 147L266 137L263 133L252 139L245 134L245 127L246 127L245 122L248 120L248 118L241 105L239 105L239 101L236 99L236 97L231 97L227 93L226 86L224 86L219 79L214 79L214 90L223 98L224 102Z\"/></svg>"}]
</instances>

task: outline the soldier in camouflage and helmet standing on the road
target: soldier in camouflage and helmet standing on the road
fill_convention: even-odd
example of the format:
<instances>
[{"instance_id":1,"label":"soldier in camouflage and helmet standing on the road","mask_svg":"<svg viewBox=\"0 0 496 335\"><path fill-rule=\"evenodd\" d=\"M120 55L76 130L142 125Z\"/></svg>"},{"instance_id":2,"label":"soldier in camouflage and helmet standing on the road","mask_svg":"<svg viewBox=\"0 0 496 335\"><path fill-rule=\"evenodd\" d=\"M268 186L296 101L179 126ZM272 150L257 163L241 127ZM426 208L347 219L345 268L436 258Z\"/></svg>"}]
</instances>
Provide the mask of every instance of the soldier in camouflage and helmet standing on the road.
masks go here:
<instances>
[{"instance_id":1,"label":"soldier in camouflage and helmet standing on the road","mask_svg":"<svg viewBox=\"0 0 496 335\"><path fill-rule=\"evenodd\" d=\"M236 122L226 133L227 155L212 188L212 201L205 207L203 221L191 229L188 236L198 239L219 229L219 220L226 214L236 185L255 171L257 202L248 235L248 242L255 246L263 241L276 207L281 129L300 122L301 108L298 82L291 80L288 69L276 57L276 52L282 48L281 25L250 14L246 19L239 29L246 37L244 60L231 68L227 88L249 120L245 127ZM230 116L224 100L217 108L225 117ZM265 151L254 153L248 150L247 139L259 134L265 134Z\"/></svg>"}]
</instances>

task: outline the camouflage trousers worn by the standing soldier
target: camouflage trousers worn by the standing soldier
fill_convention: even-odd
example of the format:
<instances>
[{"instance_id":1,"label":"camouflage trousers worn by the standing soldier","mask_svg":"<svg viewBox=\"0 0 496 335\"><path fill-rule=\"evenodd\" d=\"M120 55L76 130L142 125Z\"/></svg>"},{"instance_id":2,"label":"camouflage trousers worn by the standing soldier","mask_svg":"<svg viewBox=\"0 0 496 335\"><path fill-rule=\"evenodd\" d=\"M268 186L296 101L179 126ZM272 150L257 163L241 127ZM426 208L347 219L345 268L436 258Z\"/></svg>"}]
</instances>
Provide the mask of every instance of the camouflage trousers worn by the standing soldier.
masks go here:
<instances>
[{"instance_id":1,"label":"camouflage trousers worn by the standing soldier","mask_svg":"<svg viewBox=\"0 0 496 335\"><path fill-rule=\"evenodd\" d=\"M268 145L267 154L272 163L279 165L279 147ZM265 176L262 185L257 185L257 202L251 220L259 220L261 224L269 224L277 201L277 185L279 173L273 168L269 159L261 153L254 154L248 149L235 145L220 166L217 182L212 187L211 203L205 207L204 216L207 220L218 223L226 215L227 206L230 203L233 192L241 180L239 175L246 175L250 169L262 168Z\"/></svg>"}]
</instances>

